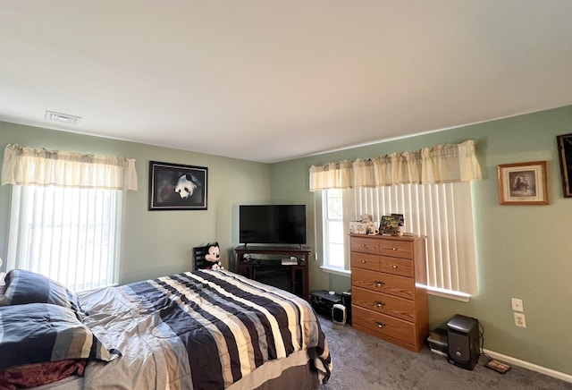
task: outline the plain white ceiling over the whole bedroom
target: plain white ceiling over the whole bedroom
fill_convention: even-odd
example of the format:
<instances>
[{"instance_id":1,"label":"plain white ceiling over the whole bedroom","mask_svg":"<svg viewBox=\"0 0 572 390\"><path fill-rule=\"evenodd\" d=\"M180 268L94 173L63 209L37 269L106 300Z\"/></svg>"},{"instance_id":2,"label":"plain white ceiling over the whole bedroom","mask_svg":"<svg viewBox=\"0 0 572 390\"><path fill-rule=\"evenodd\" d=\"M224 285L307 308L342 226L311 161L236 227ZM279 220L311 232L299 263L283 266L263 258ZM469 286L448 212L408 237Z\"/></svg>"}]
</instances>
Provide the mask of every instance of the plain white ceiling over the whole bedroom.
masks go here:
<instances>
[{"instance_id":1,"label":"plain white ceiling over the whole bedroom","mask_svg":"<svg viewBox=\"0 0 572 390\"><path fill-rule=\"evenodd\" d=\"M570 0L0 0L7 122L273 163L570 104Z\"/></svg>"}]
</instances>

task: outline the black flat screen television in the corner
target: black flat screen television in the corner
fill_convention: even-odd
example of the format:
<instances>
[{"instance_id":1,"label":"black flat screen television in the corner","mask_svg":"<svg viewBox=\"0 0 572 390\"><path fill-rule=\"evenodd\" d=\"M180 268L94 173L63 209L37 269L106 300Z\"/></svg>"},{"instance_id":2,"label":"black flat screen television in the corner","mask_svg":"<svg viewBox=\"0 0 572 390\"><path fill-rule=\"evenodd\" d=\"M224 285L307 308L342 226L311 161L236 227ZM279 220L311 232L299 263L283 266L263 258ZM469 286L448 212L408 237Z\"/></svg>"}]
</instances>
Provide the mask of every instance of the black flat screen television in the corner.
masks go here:
<instances>
[{"instance_id":1,"label":"black flat screen television in the corner","mask_svg":"<svg viewBox=\"0 0 572 390\"><path fill-rule=\"evenodd\" d=\"M240 205L240 243L305 244L306 205Z\"/></svg>"}]
</instances>

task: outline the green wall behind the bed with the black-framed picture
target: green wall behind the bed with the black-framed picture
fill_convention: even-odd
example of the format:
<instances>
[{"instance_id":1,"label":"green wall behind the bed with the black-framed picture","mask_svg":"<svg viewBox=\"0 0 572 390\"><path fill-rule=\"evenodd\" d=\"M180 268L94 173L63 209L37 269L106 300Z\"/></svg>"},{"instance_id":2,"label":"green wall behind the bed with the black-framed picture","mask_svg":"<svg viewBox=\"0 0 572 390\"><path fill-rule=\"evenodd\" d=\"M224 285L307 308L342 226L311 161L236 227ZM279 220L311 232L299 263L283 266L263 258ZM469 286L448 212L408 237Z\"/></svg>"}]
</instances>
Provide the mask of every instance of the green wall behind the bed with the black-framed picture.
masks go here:
<instances>
[{"instance_id":1,"label":"green wall behind the bed with the black-framed picture","mask_svg":"<svg viewBox=\"0 0 572 390\"><path fill-rule=\"evenodd\" d=\"M189 270L192 248L207 242L219 242L223 266L231 267L232 250L239 243L239 205L270 200L270 165L0 122L2 158L8 143L137 160L139 191L124 194L121 284ZM206 166L207 210L147 211L149 161ZM0 186L0 257L4 259L9 199L10 186Z\"/></svg>"}]
</instances>

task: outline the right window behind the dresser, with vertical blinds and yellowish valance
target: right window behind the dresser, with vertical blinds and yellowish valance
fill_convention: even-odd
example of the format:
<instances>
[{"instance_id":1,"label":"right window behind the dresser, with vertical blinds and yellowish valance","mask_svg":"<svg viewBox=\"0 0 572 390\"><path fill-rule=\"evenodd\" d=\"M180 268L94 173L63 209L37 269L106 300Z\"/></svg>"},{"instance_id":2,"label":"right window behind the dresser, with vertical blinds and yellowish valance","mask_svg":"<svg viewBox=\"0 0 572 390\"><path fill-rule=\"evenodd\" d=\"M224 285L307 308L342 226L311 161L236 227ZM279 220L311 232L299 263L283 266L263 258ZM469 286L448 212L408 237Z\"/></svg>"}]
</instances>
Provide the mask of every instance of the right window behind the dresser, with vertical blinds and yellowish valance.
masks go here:
<instances>
[{"instance_id":1,"label":"right window behind the dresser, with vertical blinds and yellowish valance","mask_svg":"<svg viewBox=\"0 0 572 390\"><path fill-rule=\"evenodd\" d=\"M470 184L477 180L481 180L481 167L475 156L475 140L466 140L374 158L312 165L309 189L324 194L324 207L328 207L327 191L344 189L341 193L344 228L361 214L372 215L374 221L391 213L403 214L408 233L427 237L427 288L435 294L466 301L477 292ZM324 210L322 213L325 247L334 242L335 234L328 231L329 215ZM315 236L319 242L320 232ZM349 249L345 242L344 269L347 269ZM327 250L324 248L323 253ZM333 259L324 256L324 268L330 269Z\"/></svg>"}]
</instances>

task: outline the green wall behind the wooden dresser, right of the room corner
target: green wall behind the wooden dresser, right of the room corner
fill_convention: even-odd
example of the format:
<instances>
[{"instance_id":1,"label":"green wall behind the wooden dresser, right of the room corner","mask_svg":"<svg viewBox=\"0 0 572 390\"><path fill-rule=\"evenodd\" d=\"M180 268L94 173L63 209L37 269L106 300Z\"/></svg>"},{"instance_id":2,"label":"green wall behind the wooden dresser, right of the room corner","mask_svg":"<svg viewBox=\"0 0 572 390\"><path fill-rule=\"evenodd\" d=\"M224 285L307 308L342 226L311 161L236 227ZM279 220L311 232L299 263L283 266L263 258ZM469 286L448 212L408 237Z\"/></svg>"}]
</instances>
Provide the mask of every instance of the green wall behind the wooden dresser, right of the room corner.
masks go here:
<instances>
[{"instance_id":1,"label":"green wall behind the wooden dresser, right of the room corner","mask_svg":"<svg viewBox=\"0 0 572 390\"><path fill-rule=\"evenodd\" d=\"M272 195L306 203L312 226L311 165L476 140L483 171L483 180L473 184L479 293L469 302L430 296L430 324L441 326L455 314L478 318L485 349L572 375L572 199L562 196L556 147L556 136L571 132L572 106L567 106L301 158L272 165ZM551 204L499 205L497 165L540 160L548 161ZM308 244L315 248L312 228ZM325 273L314 260L310 286L341 292L350 280ZM514 325L512 297L524 302L526 328Z\"/></svg>"}]
</instances>

